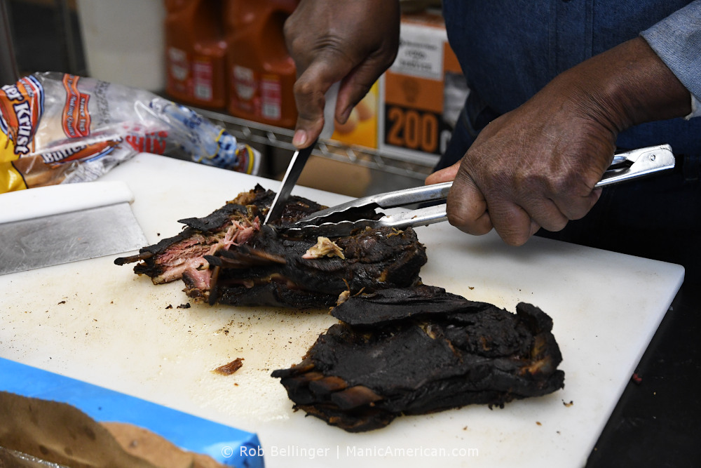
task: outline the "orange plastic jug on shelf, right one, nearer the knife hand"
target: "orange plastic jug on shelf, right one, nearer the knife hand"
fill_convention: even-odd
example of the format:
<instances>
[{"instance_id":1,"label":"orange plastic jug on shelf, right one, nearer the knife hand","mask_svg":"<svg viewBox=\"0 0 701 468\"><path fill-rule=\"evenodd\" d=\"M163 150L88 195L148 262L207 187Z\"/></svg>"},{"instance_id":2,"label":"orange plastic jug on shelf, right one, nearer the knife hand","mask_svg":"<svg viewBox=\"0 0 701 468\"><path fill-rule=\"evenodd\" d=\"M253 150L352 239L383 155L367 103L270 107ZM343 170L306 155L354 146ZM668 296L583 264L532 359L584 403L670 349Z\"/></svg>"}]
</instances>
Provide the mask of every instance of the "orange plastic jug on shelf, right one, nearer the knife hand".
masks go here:
<instances>
[{"instance_id":1,"label":"orange plastic jug on shelf, right one, nearer the knife hand","mask_svg":"<svg viewBox=\"0 0 701 468\"><path fill-rule=\"evenodd\" d=\"M297 78L287 53L283 25L297 0L228 0L226 74L233 116L271 126L294 128Z\"/></svg>"}]
</instances>

